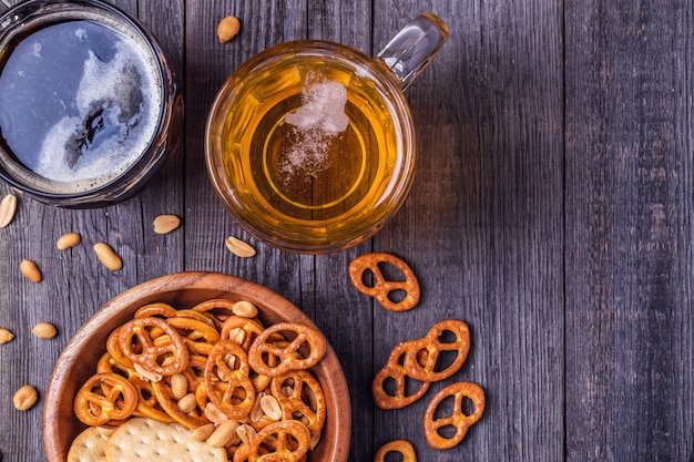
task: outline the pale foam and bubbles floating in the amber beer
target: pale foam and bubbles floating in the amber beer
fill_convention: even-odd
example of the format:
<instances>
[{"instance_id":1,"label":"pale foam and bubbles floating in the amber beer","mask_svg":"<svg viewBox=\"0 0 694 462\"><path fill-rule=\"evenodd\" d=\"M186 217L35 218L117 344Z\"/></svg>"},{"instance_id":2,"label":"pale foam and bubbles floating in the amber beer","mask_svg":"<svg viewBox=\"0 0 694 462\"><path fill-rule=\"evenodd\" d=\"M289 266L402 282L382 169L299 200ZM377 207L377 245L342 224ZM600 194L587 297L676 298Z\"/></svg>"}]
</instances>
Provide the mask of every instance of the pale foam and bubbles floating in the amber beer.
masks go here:
<instances>
[{"instance_id":1,"label":"pale foam and bubbles floating in the amber beer","mask_svg":"<svg viewBox=\"0 0 694 462\"><path fill-rule=\"evenodd\" d=\"M280 162L287 181L297 168L310 177L328 168L330 145L349 125L346 104L347 89L343 83L308 75L302 90L302 106L284 120L294 127Z\"/></svg>"}]
</instances>

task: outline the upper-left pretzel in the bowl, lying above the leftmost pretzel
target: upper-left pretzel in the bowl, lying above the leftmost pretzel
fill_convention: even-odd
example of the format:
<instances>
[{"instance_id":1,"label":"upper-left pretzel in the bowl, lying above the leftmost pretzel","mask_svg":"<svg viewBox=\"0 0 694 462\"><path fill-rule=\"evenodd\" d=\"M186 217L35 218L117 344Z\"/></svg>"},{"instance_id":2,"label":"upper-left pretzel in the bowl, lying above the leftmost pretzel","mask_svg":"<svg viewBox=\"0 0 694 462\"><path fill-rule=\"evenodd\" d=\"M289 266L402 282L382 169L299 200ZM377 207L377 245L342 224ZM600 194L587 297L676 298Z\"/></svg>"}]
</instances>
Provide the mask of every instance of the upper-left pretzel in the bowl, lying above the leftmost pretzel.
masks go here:
<instances>
[{"instance_id":1,"label":"upper-left pretzel in the bowl, lying above the leftmost pretzel","mask_svg":"<svg viewBox=\"0 0 694 462\"><path fill-rule=\"evenodd\" d=\"M171 341L154 345L152 330L155 329L165 332ZM137 341L133 342L135 339ZM161 376L181 372L188 362L188 350L181 335L159 318L137 318L125 322L119 333L119 343L129 360Z\"/></svg>"}]
</instances>

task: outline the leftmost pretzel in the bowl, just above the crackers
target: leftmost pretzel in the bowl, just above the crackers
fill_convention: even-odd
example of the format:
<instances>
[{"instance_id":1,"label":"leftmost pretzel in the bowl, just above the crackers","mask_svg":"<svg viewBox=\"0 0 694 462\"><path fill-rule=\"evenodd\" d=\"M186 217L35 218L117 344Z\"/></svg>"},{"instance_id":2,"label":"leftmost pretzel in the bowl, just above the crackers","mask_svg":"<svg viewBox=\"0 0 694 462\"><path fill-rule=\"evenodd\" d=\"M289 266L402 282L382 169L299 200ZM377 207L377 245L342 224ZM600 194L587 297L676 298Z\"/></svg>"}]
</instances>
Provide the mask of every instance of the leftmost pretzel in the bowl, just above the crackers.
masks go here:
<instances>
[{"instance_id":1,"label":"leftmost pretzel in the bowl, just above the crackers","mask_svg":"<svg viewBox=\"0 0 694 462\"><path fill-rule=\"evenodd\" d=\"M137 391L118 373L96 373L84 382L74 399L78 419L88 425L130 417L137 405Z\"/></svg>"}]
</instances>

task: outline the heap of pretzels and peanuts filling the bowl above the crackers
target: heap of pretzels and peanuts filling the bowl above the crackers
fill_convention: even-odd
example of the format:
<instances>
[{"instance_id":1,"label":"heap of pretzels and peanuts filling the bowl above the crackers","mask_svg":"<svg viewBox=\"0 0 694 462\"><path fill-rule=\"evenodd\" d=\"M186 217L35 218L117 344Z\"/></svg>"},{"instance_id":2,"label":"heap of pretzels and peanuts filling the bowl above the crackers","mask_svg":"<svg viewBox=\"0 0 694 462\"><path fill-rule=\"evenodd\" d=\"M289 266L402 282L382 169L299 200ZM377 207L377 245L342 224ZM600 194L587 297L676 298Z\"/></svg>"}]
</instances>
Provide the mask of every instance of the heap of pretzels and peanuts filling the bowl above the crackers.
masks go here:
<instances>
[{"instance_id":1,"label":"heap of pretzels and peanuts filling the bowl above the crackers","mask_svg":"<svg viewBox=\"0 0 694 462\"><path fill-rule=\"evenodd\" d=\"M234 462L300 461L326 420L325 394L308 371L325 350L316 329L266 328L247 301L150 304L110 335L73 409L83 423L102 427L131 417L197 430L234 420L237 434L224 443Z\"/></svg>"}]
</instances>

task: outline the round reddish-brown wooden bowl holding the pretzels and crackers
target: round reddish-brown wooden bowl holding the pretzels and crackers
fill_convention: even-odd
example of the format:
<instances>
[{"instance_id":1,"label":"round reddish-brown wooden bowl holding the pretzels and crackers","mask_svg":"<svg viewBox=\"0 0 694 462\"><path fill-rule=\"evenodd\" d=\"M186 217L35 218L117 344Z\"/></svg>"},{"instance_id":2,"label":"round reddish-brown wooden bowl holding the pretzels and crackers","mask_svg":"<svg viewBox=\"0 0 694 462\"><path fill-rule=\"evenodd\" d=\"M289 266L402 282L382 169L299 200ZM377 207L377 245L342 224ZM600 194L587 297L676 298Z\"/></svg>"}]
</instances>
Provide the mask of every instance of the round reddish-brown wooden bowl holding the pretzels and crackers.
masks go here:
<instances>
[{"instance_id":1,"label":"round reddish-brown wooden bowl holding the pretzels and crackers","mask_svg":"<svg viewBox=\"0 0 694 462\"><path fill-rule=\"evenodd\" d=\"M279 321L314 322L296 306L274 291L234 276L216 273L180 273L150 280L116 296L96 311L65 346L51 374L43 409L43 445L48 462L64 462L72 440L85 427L72 412L78 389L95 372L105 352L106 338L132 319L135 310L152 301L191 308L210 298L248 300L266 325ZM328 345L323 360L313 368L323 386L328 418L319 444L308 461L345 462L349 453L351 409L345 374Z\"/></svg>"}]
</instances>

